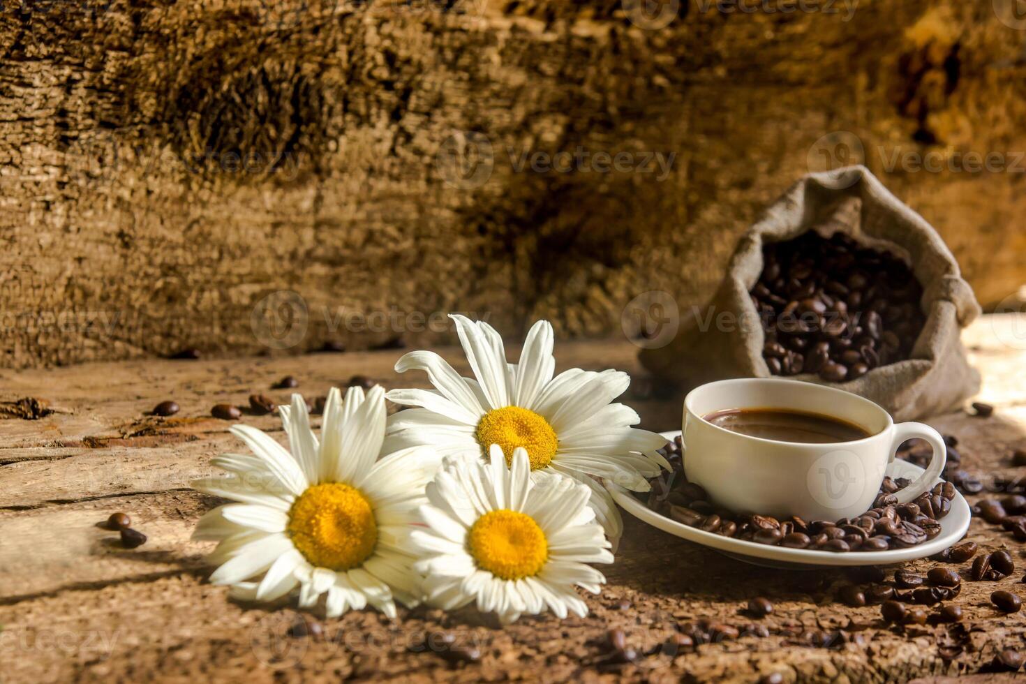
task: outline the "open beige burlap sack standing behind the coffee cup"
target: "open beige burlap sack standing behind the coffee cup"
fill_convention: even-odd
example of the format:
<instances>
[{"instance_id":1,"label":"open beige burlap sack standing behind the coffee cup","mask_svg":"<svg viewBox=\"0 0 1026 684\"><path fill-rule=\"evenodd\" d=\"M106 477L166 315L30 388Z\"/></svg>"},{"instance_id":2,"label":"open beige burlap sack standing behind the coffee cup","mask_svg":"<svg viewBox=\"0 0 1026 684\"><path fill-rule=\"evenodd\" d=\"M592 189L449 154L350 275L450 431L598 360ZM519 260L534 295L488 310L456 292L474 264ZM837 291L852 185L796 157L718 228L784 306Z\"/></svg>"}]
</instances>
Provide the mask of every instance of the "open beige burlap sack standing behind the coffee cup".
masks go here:
<instances>
[{"instance_id":1,"label":"open beige burlap sack standing behind the coffee cup","mask_svg":"<svg viewBox=\"0 0 1026 684\"><path fill-rule=\"evenodd\" d=\"M909 360L846 383L811 373L793 379L862 395L897 420L955 409L978 392L980 374L970 367L959 338L960 329L980 314L972 288L933 227L863 166L811 173L777 200L742 237L709 305L681 312L676 336L660 349L642 350L643 365L685 390L728 377L770 377L762 327L748 292L762 272L763 241L790 240L811 230L823 237L841 231L900 256L922 285L928 318Z\"/></svg>"}]
</instances>

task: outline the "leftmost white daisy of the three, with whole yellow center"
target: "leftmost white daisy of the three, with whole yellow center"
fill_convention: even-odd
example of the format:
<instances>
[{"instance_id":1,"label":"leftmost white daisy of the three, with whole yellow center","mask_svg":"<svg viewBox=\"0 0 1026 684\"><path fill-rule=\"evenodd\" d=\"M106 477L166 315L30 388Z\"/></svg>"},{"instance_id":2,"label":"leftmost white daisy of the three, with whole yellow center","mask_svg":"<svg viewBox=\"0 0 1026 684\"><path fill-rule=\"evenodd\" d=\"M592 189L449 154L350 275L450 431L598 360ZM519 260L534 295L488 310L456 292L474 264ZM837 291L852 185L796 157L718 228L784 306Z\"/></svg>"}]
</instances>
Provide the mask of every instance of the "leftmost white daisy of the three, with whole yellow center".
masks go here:
<instances>
[{"instance_id":1,"label":"leftmost white daisy of the three, with whole yellow center","mask_svg":"<svg viewBox=\"0 0 1026 684\"><path fill-rule=\"evenodd\" d=\"M329 617L367 604L395 617L395 599L421 598L408 541L434 457L405 449L379 458L384 391L341 397L328 393L319 442L302 396L279 408L291 453L255 428L233 427L252 453L215 457L232 476L192 486L238 502L207 513L193 536L220 541L210 581L237 598L273 601L299 588L304 608L326 593Z\"/></svg>"}]
</instances>

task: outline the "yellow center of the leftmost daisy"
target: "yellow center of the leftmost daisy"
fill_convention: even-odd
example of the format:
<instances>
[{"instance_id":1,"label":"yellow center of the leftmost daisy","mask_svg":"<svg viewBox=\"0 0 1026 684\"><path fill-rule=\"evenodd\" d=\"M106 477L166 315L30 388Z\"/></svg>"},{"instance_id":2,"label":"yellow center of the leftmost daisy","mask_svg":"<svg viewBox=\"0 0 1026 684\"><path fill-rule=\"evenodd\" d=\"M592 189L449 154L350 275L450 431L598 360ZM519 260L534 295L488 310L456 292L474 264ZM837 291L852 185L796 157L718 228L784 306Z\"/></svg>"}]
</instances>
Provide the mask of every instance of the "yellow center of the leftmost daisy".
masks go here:
<instances>
[{"instance_id":1,"label":"yellow center of the leftmost daisy","mask_svg":"<svg viewBox=\"0 0 1026 684\"><path fill-rule=\"evenodd\" d=\"M331 570L359 566L378 544L370 502L341 482L307 488L288 512L287 531L308 561Z\"/></svg>"}]
</instances>

